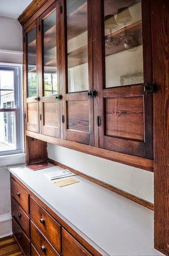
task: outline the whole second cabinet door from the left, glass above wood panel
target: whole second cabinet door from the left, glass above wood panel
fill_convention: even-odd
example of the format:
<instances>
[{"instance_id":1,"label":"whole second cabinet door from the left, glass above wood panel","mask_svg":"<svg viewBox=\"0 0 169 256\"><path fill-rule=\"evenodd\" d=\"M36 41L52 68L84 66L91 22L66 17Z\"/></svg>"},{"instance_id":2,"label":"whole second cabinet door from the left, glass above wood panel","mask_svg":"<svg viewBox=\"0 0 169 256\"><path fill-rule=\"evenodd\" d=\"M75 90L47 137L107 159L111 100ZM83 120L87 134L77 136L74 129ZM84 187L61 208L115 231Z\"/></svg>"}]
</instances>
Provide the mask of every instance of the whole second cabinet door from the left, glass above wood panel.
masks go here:
<instances>
[{"instance_id":1,"label":"whole second cabinet door from the left, glass above wood panel","mask_svg":"<svg viewBox=\"0 0 169 256\"><path fill-rule=\"evenodd\" d=\"M58 1L40 16L42 42L42 70L40 72L40 122L41 133L60 137L59 84L59 17ZM42 75L42 76L41 76Z\"/></svg>"}]
</instances>

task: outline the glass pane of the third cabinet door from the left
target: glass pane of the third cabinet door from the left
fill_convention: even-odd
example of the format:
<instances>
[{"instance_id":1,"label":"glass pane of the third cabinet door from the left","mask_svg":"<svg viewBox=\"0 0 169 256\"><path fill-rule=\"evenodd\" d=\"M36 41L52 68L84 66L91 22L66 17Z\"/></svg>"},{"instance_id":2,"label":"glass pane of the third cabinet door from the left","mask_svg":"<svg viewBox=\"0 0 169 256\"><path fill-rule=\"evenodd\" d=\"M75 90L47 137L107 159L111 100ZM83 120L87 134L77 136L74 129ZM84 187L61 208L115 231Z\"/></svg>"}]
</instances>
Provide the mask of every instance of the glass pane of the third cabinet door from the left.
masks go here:
<instances>
[{"instance_id":1,"label":"glass pane of the third cabinet door from the left","mask_svg":"<svg viewBox=\"0 0 169 256\"><path fill-rule=\"evenodd\" d=\"M89 90L87 0L66 0L68 92Z\"/></svg>"}]
</instances>

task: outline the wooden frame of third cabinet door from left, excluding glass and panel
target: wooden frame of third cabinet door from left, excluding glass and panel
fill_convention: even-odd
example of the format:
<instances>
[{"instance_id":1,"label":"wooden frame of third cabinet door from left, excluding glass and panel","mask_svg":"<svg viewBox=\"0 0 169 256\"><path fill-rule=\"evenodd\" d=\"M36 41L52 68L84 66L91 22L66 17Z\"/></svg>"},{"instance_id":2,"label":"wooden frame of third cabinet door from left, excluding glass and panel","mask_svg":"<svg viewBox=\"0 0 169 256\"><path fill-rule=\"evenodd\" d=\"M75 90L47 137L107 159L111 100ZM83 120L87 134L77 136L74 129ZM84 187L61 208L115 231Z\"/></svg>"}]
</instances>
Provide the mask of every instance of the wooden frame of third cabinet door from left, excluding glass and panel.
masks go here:
<instances>
[{"instance_id":1,"label":"wooden frame of third cabinet door from left, excluding glass and panel","mask_svg":"<svg viewBox=\"0 0 169 256\"><path fill-rule=\"evenodd\" d=\"M67 61L67 17L66 1L60 0L63 12L61 15L61 38L62 38L62 84L63 84L63 139L94 145L94 99L89 98L88 91L68 93L68 61ZM93 90L93 54L92 54L92 1L87 0L87 20L88 20L88 72L89 72L89 91ZM68 129L68 107L69 101L88 101L89 102L89 132ZM78 108L78 106L77 106Z\"/></svg>"}]
</instances>

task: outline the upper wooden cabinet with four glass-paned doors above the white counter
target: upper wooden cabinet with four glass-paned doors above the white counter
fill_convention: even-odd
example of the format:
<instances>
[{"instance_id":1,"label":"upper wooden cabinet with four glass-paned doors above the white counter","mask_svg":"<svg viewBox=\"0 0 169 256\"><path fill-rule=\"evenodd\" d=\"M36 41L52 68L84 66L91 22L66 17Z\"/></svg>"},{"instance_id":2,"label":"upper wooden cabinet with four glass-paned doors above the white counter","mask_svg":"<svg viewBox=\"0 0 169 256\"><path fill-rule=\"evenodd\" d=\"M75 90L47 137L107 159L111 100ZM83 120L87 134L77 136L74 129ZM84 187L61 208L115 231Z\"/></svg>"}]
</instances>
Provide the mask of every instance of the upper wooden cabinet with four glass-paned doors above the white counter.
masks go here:
<instances>
[{"instance_id":1,"label":"upper wooden cabinet with four glass-paned doors above the white counter","mask_svg":"<svg viewBox=\"0 0 169 256\"><path fill-rule=\"evenodd\" d=\"M149 1L51 0L34 17L24 29L26 130L153 159Z\"/></svg>"}]
</instances>

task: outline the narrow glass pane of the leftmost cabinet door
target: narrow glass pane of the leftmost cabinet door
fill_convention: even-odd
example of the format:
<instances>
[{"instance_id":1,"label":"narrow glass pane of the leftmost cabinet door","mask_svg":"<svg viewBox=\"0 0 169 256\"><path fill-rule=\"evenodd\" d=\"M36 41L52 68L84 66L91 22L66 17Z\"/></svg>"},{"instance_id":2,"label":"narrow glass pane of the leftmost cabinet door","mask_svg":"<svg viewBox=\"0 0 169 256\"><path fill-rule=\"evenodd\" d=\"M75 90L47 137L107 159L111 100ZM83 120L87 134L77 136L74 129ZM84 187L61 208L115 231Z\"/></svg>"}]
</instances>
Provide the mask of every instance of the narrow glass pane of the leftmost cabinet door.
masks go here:
<instances>
[{"instance_id":1,"label":"narrow glass pane of the leftmost cabinet door","mask_svg":"<svg viewBox=\"0 0 169 256\"><path fill-rule=\"evenodd\" d=\"M36 28L27 35L28 41L28 97L37 96Z\"/></svg>"}]
</instances>

